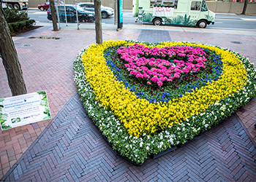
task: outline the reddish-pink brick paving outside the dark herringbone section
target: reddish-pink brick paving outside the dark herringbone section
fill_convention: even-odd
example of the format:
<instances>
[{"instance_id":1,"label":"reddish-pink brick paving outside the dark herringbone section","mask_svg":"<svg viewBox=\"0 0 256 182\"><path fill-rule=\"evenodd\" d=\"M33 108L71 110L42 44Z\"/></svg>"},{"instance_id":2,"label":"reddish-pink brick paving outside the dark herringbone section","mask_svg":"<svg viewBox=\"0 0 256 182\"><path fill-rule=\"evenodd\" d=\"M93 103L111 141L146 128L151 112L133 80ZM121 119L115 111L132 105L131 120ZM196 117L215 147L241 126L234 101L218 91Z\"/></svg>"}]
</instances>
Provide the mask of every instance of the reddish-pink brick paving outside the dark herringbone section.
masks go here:
<instances>
[{"instance_id":1,"label":"reddish-pink brick paving outside the dark herringbone section","mask_svg":"<svg viewBox=\"0 0 256 182\"><path fill-rule=\"evenodd\" d=\"M124 29L124 31L121 32L106 30L103 31L103 38L105 40L140 39L150 41L153 32L154 31L141 31L138 29ZM172 41L200 41L201 43L236 50L249 58L251 62L256 62L256 55L254 53L255 36L178 31L157 32L162 32L162 34L159 34L159 38L156 36L155 39L158 39L157 41L162 41L163 38L164 40L171 39ZM166 32L168 32L169 35L167 35ZM56 36L61 39L29 39L31 36ZM72 98L72 95L75 94L75 83L72 80L72 62L79 50L94 43L94 37L94 30L80 29L80 31L77 31L63 28L61 31L54 32L51 31L49 27L42 27L30 33L23 34L20 36L20 39L16 38L15 47L23 69L27 90L28 92L36 92L39 90L46 90L48 92L50 111L53 118L61 111L61 108L64 108L64 105ZM242 44L233 44L231 41L241 41ZM11 92L2 65L0 65L0 78L0 98L10 97ZM253 138L256 137L255 129L253 128L253 124L256 120L255 101L256 100L253 99L241 111L237 112L239 118ZM12 165L15 165L18 159L20 159L51 121L52 120L37 122L35 124L28 124L0 132L0 178L10 170ZM109 149L109 151L111 150ZM254 160L255 156L250 159ZM130 174L130 172L127 173ZM246 172L246 174L249 174L249 172ZM254 175L250 176L253 177Z\"/></svg>"}]
</instances>

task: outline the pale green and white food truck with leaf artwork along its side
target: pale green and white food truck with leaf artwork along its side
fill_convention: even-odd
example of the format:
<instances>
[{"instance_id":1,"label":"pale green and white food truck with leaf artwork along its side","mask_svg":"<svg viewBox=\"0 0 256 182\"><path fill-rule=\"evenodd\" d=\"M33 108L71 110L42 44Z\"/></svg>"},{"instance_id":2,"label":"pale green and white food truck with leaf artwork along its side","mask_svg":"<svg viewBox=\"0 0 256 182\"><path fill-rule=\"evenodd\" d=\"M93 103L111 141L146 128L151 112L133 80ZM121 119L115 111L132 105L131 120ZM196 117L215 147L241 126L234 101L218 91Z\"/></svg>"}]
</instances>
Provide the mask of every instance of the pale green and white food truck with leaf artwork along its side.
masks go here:
<instances>
[{"instance_id":1,"label":"pale green and white food truck with leaf artwork along its side","mask_svg":"<svg viewBox=\"0 0 256 182\"><path fill-rule=\"evenodd\" d=\"M154 25L186 25L206 28L214 25L214 12L205 0L133 0L132 15Z\"/></svg>"}]
</instances>

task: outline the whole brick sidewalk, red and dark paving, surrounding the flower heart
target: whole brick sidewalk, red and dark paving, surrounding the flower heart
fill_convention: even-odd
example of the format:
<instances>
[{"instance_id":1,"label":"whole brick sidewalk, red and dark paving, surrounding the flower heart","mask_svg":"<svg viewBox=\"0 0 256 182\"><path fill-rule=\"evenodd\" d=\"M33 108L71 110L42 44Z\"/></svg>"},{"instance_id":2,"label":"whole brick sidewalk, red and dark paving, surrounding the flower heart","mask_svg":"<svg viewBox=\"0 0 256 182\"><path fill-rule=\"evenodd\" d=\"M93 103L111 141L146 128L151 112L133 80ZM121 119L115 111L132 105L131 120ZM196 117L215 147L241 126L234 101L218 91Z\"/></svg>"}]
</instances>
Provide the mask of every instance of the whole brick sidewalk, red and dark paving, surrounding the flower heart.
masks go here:
<instances>
[{"instance_id":1,"label":"whole brick sidewalk, red and dark paving, surrounding the flower heart","mask_svg":"<svg viewBox=\"0 0 256 182\"><path fill-rule=\"evenodd\" d=\"M256 99L184 148L135 167L118 157L83 109L72 63L95 43L94 23L51 24L14 37L28 92L46 90L52 118L0 132L0 178L7 181L255 181ZM256 63L255 31L102 25L103 39L192 41L227 47ZM40 36L60 39L38 39ZM35 39L29 39L34 37ZM234 44L233 42L241 43ZM0 98L11 96L0 66ZM50 123L50 124L49 124ZM247 133L249 132L249 134ZM11 169L11 170L10 170Z\"/></svg>"}]
</instances>

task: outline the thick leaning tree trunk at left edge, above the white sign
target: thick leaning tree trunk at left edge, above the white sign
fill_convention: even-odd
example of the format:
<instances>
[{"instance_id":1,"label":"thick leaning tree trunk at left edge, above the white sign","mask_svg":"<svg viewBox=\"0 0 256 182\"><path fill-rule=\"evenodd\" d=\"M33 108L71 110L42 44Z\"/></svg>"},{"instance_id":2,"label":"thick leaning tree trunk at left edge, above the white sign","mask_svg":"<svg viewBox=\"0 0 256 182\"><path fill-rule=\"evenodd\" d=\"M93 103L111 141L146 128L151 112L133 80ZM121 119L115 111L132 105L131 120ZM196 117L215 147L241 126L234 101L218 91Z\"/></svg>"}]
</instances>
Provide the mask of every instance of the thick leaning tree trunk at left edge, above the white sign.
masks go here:
<instances>
[{"instance_id":1,"label":"thick leaning tree trunk at left edge, above the white sign","mask_svg":"<svg viewBox=\"0 0 256 182\"><path fill-rule=\"evenodd\" d=\"M5 71L7 72L12 95L26 94L26 85L23 80L20 62L2 7L0 7L0 55Z\"/></svg>"}]
</instances>

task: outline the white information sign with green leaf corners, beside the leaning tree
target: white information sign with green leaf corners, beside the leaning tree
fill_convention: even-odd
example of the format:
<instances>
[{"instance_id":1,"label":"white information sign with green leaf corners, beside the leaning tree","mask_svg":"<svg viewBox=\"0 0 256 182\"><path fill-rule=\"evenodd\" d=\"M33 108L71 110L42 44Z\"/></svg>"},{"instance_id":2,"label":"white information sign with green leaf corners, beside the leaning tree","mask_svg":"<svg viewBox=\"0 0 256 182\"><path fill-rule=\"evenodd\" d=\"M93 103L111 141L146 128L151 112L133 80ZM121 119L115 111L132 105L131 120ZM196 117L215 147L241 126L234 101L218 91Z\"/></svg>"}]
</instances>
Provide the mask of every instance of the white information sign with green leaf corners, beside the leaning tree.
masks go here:
<instances>
[{"instance_id":1,"label":"white information sign with green leaf corners, beside the leaning tree","mask_svg":"<svg viewBox=\"0 0 256 182\"><path fill-rule=\"evenodd\" d=\"M45 91L0 99L1 130L50 119Z\"/></svg>"}]
</instances>

